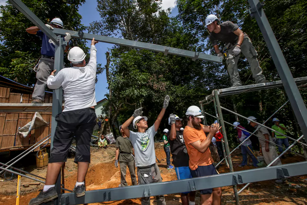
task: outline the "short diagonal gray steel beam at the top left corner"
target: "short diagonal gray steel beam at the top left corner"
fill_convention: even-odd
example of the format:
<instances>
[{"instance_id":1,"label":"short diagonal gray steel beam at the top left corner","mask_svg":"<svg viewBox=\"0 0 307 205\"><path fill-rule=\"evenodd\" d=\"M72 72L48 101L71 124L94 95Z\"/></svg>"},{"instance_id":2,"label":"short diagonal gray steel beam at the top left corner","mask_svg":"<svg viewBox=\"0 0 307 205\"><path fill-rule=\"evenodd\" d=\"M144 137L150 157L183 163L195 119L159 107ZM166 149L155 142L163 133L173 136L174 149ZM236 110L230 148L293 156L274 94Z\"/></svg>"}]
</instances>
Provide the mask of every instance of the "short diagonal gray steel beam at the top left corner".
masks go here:
<instances>
[{"instance_id":1,"label":"short diagonal gray steel beam at the top left corner","mask_svg":"<svg viewBox=\"0 0 307 205\"><path fill-rule=\"evenodd\" d=\"M43 31L56 45L59 45L56 35L39 19L24 3L20 0L8 0L13 4L22 14L25 15L35 26Z\"/></svg>"}]
</instances>

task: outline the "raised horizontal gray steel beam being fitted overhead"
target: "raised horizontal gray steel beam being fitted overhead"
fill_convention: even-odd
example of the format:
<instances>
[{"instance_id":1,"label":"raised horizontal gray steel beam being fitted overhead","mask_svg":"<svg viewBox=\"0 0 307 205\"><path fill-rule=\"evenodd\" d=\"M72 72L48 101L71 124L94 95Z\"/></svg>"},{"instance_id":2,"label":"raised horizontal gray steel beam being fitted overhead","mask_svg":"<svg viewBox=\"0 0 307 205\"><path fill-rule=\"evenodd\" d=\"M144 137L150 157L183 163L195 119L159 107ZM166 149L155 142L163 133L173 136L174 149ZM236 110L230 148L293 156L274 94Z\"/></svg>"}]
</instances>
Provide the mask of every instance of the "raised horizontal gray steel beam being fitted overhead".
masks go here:
<instances>
[{"instance_id":1,"label":"raised horizontal gray steel beam being fitted overhead","mask_svg":"<svg viewBox=\"0 0 307 205\"><path fill-rule=\"evenodd\" d=\"M163 45L156 45L156 44L144 43L144 42L139 42L139 41L131 41L131 40L126 40L122 38L100 36L100 35L95 35L95 34L87 34L83 32L57 29L57 28L55 28L53 32L56 35L63 35L63 36L66 35L65 33L69 33L73 38L82 38L86 40L92 40L93 38L95 38L95 40L99 42L111 43L111 44L116 44L116 45L124 45L128 47L146 49L146 50L151 50L151 51L157 51L157 52L164 53L165 55L173 54L177 56L190 57L193 59L193 61L195 61L196 59L199 59L199 60L204 60L204 61L222 63L222 57L208 55L205 53L199 53L195 51L188 51L188 50L183 50L183 49L172 48L172 47L163 46Z\"/></svg>"}]
</instances>

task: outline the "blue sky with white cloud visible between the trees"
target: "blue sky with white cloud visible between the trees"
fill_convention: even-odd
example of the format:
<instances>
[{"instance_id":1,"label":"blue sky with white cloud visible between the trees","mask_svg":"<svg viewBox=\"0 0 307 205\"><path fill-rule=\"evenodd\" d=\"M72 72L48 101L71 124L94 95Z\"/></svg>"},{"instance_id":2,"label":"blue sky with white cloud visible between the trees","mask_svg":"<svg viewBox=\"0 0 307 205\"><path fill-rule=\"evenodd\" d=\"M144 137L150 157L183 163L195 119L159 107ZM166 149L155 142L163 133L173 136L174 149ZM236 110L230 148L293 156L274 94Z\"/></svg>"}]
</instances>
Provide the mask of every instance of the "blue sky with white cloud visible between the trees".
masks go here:
<instances>
[{"instance_id":1,"label":"blue sky with white cloud visible between the trees","mask_svg":"<svg viewBox=\"0 0 307 205\"><path fill-rule=\"evenodd\" d=\"M1 0L0 0L1 1ZM170 17L176 16L178 14L176 1L175 0L164 0L162 1L162 9L171 8L172 13L169 15ZM79 7L79 13L82 16L81 23L84 24L84 26L89 26L91 22L93 21L99 21L100 16L97 8L97 1L95 0L88 0L83 4L81 7ZM90 15L89 15L90 14ZM87 46L90 46L90 41L87 41ZM99 42L96 44L97 48L97 62L101 63L102 66L106 65L106 58L104 53L108 51L108 48L112 48L113 44L108 43L102 43ZM106 72L104 71L102 74L98 75L98 82L96 84L96 101L100 101L103 98L105 98L105 94L109 92L107 89L107 77Z\"/></svg>"}]
</instances>

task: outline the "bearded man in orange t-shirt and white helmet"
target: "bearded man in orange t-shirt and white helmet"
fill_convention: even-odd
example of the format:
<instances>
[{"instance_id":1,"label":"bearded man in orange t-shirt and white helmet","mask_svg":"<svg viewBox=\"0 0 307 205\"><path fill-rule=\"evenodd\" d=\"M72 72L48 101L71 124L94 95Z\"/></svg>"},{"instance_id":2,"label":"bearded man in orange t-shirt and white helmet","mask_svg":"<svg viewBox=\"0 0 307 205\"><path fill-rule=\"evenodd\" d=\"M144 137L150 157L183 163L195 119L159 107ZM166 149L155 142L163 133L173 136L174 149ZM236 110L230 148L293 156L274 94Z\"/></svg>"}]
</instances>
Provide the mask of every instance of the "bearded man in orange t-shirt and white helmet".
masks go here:
<instances>
[{"instance_id":1,"label":"bearded man in orange t-shirt and white helmet","mask_svg":"<svg viewBox=\"0 0 307 205\"><path fill-rule=\"evenodd\" d=\"M183 138L189 155L189 168L193 177L209 176L218 174L214 165L209 146L214 134L221 129L220 124L210 126L202 125L204 118L200 108L190 106L185 113L187 126L183 131ZM209 133L206 136L205 133ZM221 187L200 190L200 204L221 204Z\"/></svg>"}]
</instances>

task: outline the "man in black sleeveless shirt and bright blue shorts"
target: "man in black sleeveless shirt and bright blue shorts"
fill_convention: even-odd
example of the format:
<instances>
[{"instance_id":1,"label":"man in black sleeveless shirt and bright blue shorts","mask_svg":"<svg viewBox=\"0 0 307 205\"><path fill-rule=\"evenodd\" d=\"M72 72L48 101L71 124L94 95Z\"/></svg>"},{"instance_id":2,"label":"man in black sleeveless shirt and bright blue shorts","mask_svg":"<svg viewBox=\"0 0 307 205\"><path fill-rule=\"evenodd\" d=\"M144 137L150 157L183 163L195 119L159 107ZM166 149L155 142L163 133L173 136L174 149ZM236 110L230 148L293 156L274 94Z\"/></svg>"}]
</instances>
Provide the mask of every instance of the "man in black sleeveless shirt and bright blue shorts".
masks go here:
<instances>
[{"instance_id":1,"label":"man in black sleeveless shirt and bright blue shorts","mask_svg":"<svg viewBox=\"0 0 307 205\"><path fill-rule=\"evenodd\" d=\"M177 115L169 115L169 125L171 130L167 139L170 144L173 165L177 179L190 179L192 178L189 168L189 155L185 146L185 140L183 139L182 119ZM183 205L195 205L195 191L181 193L181 203Z\"/></svg>"}]
</instances>

